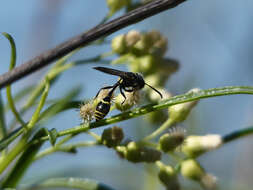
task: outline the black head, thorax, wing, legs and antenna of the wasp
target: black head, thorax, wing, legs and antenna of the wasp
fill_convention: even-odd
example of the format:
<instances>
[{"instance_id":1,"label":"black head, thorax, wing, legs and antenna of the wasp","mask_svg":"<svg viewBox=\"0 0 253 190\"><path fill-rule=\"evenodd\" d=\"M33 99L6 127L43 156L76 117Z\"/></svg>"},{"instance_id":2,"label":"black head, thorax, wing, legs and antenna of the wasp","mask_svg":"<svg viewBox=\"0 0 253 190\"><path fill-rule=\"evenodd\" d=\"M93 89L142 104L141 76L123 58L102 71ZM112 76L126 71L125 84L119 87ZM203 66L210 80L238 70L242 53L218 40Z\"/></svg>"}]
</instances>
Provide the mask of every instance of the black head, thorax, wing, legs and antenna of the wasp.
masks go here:
<instances>
[{"instance_id":1,"label":"black head, thorax, wing, legs and antenna of the wasp","mask_svg":"<svg viewBox=\"0 0 253 190\"><path fill-rule=\"evenodd\" d=\"M156 91L161 96L161 98L163 98L162 94L158 90L156 90L154 87L150 86L149 84L145 83L142 75L139 73L125 72L125 71L120 71L120 70L111 69L107 67L93 67L93 69L120 77L119 80L116 82L116 84L114 84L113 86L106 86L104 88L101 88L98 91L96 97L98 96L99 92L103 89L110 89L110 88L116 89L119 86L120 93L124 97L124 101L122 102L123 104L126 100L126 95L124 94L124 91L134 92L134 91L144 88L144 86L147 85L148 87Z\"/></svg>"}]
</instances>

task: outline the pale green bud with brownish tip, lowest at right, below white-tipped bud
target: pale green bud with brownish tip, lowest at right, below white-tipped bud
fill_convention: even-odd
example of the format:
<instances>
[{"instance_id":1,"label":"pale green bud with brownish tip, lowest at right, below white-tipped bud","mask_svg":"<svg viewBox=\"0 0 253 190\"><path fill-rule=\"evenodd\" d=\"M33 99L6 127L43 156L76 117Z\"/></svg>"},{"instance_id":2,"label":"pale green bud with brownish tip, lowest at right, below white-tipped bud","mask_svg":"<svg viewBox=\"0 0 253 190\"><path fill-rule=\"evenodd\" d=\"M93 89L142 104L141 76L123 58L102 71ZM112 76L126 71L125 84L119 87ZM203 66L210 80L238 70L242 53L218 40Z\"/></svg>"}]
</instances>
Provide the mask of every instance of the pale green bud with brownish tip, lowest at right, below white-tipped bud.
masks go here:
<instances>
[{"instance_id":1,"label":"pale green bud with brownish tip, lowest at right, below white-tipped bud","mask_svg":"<svg viewBox=\"0 0 253 190\"><path fill-rule=\"evenodd\" d=\"M216 188L216 177L206 173L196 160L188 159L181 163L182 176L199 182L205 189Z\"/></svg>"}]
</instances>

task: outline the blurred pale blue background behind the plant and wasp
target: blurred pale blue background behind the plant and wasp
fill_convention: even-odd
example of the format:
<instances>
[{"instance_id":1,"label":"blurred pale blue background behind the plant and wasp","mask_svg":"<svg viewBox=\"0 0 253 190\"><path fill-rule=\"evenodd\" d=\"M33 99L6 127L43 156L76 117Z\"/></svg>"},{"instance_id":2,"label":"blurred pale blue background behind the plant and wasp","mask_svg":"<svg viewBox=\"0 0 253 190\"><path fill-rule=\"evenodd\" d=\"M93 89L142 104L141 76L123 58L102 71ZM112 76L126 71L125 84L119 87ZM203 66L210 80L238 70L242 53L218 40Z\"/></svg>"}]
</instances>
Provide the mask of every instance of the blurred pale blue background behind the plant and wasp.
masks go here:
<instances>
[{"instance_id":1,"label":"blurred pale blue background behind the plant and wasp","mask_svg":"<svg viewBox=\"0 0 253 190\"><path fill-rule=\"evenodd\" d=\"M180 62L179 71L171 76L166 85L173 94L182 94L194 87L207 89L229 85L252 86L252 8L251 0L192 0L120 30L109 36L109 39L131 29L156 29L166 36L169 41L166 56ZM17 65L20 65L94 27L107 12L105 0L3 1L0 7L0 32L8 32L14 37ZM114 17L121 14L123 12ZM87 47L72 59L85 59L108 51L109 44ZM0 56L2 74L8 70L10 56L9 43L4 37L0 37ZM51 88L49 98L57 98L67 93L71 87L80 85L83 90L78 99L84 100L94 97L102 86L115 82L115 77L92 69L97 65L99 64L82 65L65 72ZM16 82L13 91L17 92L26 85L38 82L48 68ZM126 70L124 66L117 68ZM201 100L183 125L188 134L223 135L252 125L252 115L252 96L210 98ZM71 110L51 120L46 127L63 130L79 124L78 111ZM138 139L138 134L148 125L141 118L118 124L123 127L126 136L132 139ZM101 133L102 129L94 131ZM73 141L88 138L81 134ZM198 160L209 173L217 176L220 189L252 189L252 145L253 140L249 136L226 144ZM50 144L46 143L45 147L48 146ZM143 164L132 164L119 159L114 151L104 147L81 148L75 155L55 153L35 162L22 183L33 183L52 176L77 176L99 180L115 189L147 189L143 186L148 179L144 168ZM201 189L195 183L186 183L185 186L187 185ZM160 188L164 189L162 186Z\"/></svg>"}]
</instances>

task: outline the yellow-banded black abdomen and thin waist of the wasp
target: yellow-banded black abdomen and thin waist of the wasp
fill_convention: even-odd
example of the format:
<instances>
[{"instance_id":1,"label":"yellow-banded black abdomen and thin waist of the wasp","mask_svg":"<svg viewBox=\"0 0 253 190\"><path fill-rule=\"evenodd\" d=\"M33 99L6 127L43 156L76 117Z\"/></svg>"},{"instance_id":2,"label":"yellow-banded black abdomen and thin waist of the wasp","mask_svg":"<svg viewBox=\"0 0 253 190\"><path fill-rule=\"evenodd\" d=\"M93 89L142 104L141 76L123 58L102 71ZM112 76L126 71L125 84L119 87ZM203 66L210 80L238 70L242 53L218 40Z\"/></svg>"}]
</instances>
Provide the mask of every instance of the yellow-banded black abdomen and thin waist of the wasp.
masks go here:
<instances>
[{"instance_id":1,"label":"yellow-banded black abdomen and thin waist of the wasp","mask_svg":"<svg viewBox=\"0 0 253 190\"><path fill-rule=\"evenodd\" d=\"M113 92L116 88L117 88L117 85L112 86L112 90L110 90L109 93L107 94L107 96L104 97L97 104L95 114L94 114L96 121L99 121L99 120L103 119L108 114L108 112L110 111ZM100 89L100 90L102 90L102 89ZM98 96L98 94L96 95L96 97L97 96Z\"/></svg>"}]
</instances>

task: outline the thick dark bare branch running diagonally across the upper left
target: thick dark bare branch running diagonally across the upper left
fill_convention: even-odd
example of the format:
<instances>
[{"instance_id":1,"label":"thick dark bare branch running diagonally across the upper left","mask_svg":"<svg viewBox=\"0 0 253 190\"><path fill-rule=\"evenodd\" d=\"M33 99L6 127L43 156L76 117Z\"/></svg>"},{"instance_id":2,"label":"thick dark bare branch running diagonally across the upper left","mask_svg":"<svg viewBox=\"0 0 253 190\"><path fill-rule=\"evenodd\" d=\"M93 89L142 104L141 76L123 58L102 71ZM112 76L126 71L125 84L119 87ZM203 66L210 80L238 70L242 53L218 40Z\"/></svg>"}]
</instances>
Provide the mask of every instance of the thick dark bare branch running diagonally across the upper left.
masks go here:
<instances>
[{"instance_id":1,"label":"thick dark bare branch running diagonally across the upper left","mask_svg":"<svg viewBox=\"0 0 253 190\"><path fill-rule=\"evenodd\" d=\"M0 76L0 89L52 63L56 59L70 53L76 48L85 46L90 42L112 34L117 30L137 23L164 10L174 8L184 1L186 0L154 0L131 12L128 12L124 16L114 19L108 23L98 25L85 33L63 42L53 49L40 54L19 67L14 68L12 71L4 73Z\"/></svg>"}]
</instances>

